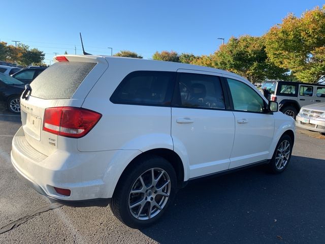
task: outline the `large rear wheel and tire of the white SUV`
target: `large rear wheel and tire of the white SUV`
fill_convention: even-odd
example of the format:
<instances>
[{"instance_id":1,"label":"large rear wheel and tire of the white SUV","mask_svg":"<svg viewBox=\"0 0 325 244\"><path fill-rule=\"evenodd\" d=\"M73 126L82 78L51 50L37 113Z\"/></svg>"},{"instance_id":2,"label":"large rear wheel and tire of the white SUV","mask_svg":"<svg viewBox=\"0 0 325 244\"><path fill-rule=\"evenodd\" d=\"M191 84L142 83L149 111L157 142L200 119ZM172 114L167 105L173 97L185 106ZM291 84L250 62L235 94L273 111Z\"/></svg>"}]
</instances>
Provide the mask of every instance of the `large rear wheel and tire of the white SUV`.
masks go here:
<instances>
[{"instance_id":1,"label":"large rear wheel and tire of the white SUV","mask_svg":"<svg viewBox=\"0 0 325 244\"><path fill-rule=\"evenodd\" d=\"M131 228L144 228L156 222L173 202L177 178L164 158L145 156L123 172L113 194L113 214Z\"/></svg>"}]
</instances>

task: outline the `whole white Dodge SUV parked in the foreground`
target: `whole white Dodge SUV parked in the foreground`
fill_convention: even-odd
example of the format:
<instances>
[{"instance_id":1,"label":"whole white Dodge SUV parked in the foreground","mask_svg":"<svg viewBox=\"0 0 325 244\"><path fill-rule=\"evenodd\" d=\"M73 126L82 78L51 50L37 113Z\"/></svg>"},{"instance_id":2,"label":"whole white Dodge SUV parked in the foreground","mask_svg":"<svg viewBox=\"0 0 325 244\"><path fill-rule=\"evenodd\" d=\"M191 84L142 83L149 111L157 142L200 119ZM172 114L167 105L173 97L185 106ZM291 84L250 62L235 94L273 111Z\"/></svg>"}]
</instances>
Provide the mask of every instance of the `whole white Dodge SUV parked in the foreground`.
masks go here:
<instances>
[{"instance_id":1,"label":"whole white Dodge SUV parked in the foreground","mask_svg":"<svg viewBox=\"0 0 325 244\"><path fill-rule=\"evenodd\" d=\"M198 177L261 163L282 172L295 139L242 77L136 58L56 56L27 85L14 168L32 188L73 206L107 206L124 224L156 221Z\"/></svg>"}]
</instances>

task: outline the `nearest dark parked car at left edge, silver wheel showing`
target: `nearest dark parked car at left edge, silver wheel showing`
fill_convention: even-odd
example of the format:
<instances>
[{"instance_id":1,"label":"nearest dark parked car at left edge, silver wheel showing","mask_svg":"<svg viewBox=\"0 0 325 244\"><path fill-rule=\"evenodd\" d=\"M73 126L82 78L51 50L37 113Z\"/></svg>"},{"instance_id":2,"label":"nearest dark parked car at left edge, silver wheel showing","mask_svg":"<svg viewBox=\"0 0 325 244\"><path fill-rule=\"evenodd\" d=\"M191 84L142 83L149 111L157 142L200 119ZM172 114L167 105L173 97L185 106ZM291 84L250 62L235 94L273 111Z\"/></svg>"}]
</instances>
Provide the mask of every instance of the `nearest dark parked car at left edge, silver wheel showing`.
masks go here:
<instances>
[{"instance_id":1,"label":"nearest dark parked car at left edge, silver wheel showing","mask_svg":"<svg viewBox=\"0 0 325 244\"><path fill-rule=\"evenodd\" d=\"M20 113L20 96L25 84L9 75L0 73L0 102L13 113Z\"/></svg>"}]
</instances>

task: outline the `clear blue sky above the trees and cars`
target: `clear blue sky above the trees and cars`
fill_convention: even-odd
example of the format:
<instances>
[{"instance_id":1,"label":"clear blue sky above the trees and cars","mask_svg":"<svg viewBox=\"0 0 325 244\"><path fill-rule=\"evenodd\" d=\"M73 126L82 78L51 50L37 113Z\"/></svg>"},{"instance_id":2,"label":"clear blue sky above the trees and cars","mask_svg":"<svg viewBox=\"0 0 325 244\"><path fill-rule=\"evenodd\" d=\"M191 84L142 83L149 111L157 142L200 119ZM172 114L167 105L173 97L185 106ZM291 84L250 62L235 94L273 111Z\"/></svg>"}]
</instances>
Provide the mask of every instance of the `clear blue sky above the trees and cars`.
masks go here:
<instances>
[{"instance_id":1,"label":"clear blue sky above the trees and cars","mask_svg":"<svg viewBox=\"0 0 325 244\"><path fill-rule=\"evenodd\" d=\"M21 41L46 53L81 53L79 32L92 54L135 51L150 58L155 51L210 54L221 40L261 36L288 13L301 16L322 6L318 0L134 0L134 1L5 1L0 40Z\"/></svg>"}]
</instances>

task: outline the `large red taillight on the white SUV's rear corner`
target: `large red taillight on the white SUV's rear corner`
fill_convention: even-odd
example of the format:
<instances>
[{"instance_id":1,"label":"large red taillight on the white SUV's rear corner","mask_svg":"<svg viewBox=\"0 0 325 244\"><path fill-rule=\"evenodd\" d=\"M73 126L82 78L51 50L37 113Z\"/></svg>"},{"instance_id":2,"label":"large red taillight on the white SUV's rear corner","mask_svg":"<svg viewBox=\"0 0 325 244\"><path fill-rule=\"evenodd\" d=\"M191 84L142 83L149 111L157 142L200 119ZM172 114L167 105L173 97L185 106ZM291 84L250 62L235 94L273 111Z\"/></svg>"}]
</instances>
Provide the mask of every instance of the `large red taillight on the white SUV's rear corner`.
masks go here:
<instances>
[{"instance_id":1,"label":"large red taillight on the white SUV's rear corner","mask_svg":"<svg viewBox=\"0 0 325 244\"><path fill-rule=\"evenodd\" d=\"M102 114L84 108L47 108L44 113L43 131L80 138L86 135L101 117Z\"/></svg>"}]
</instances>

